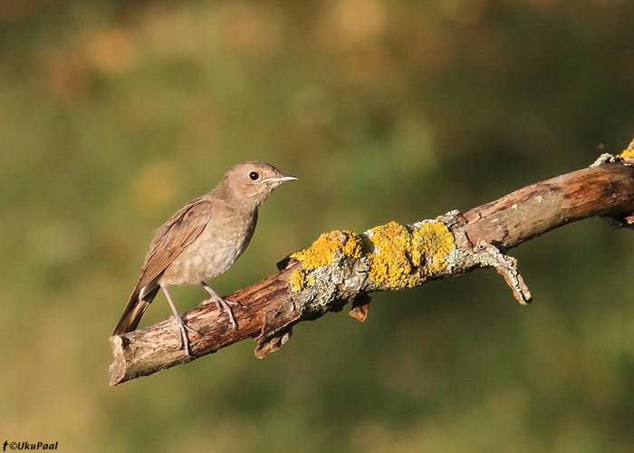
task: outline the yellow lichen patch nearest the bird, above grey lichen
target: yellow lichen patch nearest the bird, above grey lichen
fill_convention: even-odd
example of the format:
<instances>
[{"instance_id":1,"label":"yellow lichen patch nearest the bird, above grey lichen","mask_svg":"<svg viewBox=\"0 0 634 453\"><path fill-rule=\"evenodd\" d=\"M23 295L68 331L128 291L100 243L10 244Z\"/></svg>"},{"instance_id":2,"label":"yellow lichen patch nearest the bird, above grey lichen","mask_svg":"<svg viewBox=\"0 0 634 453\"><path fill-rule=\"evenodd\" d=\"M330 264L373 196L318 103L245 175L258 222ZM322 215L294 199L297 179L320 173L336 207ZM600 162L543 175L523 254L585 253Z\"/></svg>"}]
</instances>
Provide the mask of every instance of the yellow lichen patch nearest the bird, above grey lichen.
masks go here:
<instances>
[{"instance_id":1,"label":"yellow lichen patch nearest the bird, above grey lichen","mask_svg":"<svg viewBox=\"0 0 634 453\"><path fill-rule=\"evenodd\" d=\"M293 291L300 291L307 283L310 284L311 280L314 282L310 277L307 281L306 275L322 265L331 265L335 252L340 252L343 256L360 258L363 255L363 241L352 231L334 230L323 233L312 246L295 252L291 257L302 263L302 267L293 271L291 275Z\"/></svg>"}]
</instances>

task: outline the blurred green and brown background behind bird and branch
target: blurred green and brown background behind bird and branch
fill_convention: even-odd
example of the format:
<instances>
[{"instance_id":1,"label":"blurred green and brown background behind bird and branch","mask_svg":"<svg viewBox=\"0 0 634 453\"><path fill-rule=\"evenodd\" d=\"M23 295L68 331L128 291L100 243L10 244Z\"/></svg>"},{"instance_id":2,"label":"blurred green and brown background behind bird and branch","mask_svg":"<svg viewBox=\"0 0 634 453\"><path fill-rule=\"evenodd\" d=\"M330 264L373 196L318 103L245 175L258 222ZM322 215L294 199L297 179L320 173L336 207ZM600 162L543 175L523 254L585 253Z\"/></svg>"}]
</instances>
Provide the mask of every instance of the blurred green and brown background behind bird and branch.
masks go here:
<instances>
[{"instance_id":1,"label":"blurred green and brown background behind bird and branch","mask_svg":"<svg viewBox=\"0 0 634 453\"><path fill-rule=\"evenodd\" d=\"M334 228L463 211L616 153L628 0L0 0L0 440L60 451L631 451L634 241L599 219L108 386L153 228L238 161L300 177L221 294ZM175 288L185 311L206 297ZM142 325L168 316L159 295Z\"/></svg>"}]
</instances>

